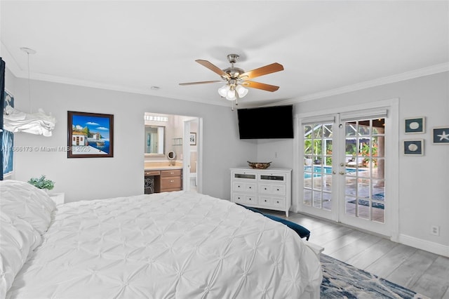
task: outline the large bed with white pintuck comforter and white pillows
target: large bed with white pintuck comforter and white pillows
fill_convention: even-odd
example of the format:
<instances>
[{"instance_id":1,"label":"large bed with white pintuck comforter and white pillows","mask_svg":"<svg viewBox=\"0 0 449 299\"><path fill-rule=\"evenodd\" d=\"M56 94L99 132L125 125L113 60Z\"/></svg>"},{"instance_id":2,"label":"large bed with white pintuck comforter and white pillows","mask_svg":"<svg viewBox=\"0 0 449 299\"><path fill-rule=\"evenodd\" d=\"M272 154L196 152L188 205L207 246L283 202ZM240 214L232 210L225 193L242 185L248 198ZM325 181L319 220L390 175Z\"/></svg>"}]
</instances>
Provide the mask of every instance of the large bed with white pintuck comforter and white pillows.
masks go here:
<instances>
[{"instance_id":1,"label":"large bed with white pintuck comforter and white pillows","mask_svg":"<svg viewBox=\"0 0 449 299\"><path fill-rule=\"evenodd\" d=\"M316 251L286 225L195 192L56 206L0 182L0 298L319 298Z\"/></svg>"}]
</instances>

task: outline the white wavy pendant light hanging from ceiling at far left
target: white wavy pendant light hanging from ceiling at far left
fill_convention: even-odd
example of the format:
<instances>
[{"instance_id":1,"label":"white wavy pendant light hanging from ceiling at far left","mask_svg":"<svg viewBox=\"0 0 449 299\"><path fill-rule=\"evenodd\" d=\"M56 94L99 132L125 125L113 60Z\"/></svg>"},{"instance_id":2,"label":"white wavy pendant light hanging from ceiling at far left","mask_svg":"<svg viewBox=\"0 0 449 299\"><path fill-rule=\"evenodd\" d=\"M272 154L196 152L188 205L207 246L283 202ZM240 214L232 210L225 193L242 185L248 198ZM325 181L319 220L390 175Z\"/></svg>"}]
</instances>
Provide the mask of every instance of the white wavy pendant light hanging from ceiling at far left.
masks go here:
<instances>
[{"instance_id":1,"label":"white wavy pendant light hanging from ceiling at far left","mask_svg":"<svg viewBox=\"0 0 449 299\"><path fill-rule=\"evenodd\" d=\"M51 136L51 131L55 128L55 118L51 114L45 114L43 109L38 109L38 112L32 113L31 91L29 88L29 54L35 54L31 48L20 48L20 50L27 53L27 71L28 71L28 102L29 113L21 112L18 109L6 106L4 109L4 129L13 133L25 132L36 135Z\"/></svg>"}]
</instances>

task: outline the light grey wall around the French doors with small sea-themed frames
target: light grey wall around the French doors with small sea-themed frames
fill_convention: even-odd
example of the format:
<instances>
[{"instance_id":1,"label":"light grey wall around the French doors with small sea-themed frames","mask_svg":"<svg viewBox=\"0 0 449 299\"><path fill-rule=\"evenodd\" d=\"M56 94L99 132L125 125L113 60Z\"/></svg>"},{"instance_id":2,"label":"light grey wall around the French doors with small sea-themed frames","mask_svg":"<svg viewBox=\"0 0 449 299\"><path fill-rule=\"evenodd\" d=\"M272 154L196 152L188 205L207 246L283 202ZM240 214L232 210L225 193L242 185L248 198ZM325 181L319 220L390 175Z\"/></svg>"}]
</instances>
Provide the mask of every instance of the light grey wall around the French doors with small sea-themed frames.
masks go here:
<instances>
[{"instance_id":1,"label":"light grey wall around the French doors with small sea-themed frames","mask_svg":"<svg viewBox=\"0 0 449 299\"><path fill-rule=\"evenodd\" d=\"M405 139L424 139L424 156L399 154L399 238L400 241L425 250L436 249L449 256L449 145L432 145L431 128L449 127L449 73L434 74L375 88L366 88L321 100L295 104L295 113L359 105L399 98L399 144ZM406 117L426 117L426 133L404 134ZM297 135L297 132L295 132ZM295 135L295 136L296 136ZM267 142L257 145L257 160L274 159L279 166L292 168L292 140ZM431 235L431 225L440 227L440 235Z\"/></svg>"}]
</instances>

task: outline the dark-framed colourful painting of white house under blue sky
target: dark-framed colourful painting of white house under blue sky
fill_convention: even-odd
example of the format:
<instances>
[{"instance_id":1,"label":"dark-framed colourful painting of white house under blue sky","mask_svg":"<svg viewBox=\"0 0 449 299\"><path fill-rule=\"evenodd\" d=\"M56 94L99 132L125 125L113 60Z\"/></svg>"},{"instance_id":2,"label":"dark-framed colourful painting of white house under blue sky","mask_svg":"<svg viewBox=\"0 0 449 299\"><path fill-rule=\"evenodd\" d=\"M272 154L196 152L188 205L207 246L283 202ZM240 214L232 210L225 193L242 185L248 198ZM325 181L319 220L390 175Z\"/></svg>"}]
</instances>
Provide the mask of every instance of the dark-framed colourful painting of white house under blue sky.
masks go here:
<instances>
[{"instance_id":1,"label":"dark-framed colourful painting of white house under blue sky","mask_svg":"<svg viewBox=\"0 0 449 299\"><path fill-rule=\"evenodd\" d=\"M114 157L114 115L67 111L67 158Z\"/></svg>"}]
</instances>

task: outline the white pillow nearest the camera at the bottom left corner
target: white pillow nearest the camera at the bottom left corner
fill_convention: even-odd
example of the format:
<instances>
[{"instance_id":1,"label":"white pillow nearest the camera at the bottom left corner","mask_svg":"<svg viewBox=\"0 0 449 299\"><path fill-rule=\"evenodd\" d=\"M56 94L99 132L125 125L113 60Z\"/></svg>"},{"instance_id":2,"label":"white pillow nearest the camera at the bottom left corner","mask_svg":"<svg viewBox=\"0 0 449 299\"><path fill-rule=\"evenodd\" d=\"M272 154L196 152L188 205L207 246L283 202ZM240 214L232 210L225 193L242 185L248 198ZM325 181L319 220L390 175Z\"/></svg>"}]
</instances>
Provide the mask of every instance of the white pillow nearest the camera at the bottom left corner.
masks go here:
<instances>
[{"instance_id":1,"label":"white pillow nearest the camera at the bottom left corner","mask_svg":"<svg viewBox=\"0 0 449 299\"><path fill-rule=\"evenodd\" d=\"M28 254L41 244L32 225L0 211L0 299L4 299Z\"/></svg>"}]
</instances>

